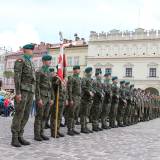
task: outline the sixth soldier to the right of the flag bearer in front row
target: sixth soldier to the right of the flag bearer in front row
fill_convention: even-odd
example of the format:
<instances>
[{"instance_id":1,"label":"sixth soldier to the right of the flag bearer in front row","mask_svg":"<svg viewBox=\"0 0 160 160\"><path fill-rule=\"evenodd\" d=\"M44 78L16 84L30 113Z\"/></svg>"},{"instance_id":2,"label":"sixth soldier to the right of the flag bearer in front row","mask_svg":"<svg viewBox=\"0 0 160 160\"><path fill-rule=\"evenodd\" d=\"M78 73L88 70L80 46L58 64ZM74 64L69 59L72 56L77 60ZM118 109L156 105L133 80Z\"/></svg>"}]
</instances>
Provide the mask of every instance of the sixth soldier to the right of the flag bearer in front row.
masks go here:
<instances>
[{"instance_id":1,"label":"sixth soldier to the right of the flag bearer in front row","mask_svg":"<svg viewBox=\"0 0 160 160\"><path fill-rule=\"evenodd\" d=\"M117 122L119 127L124 127L123 117L127 106L125 81L120 81L120 96L117 114Z\"/></svg>"}]
</instances>

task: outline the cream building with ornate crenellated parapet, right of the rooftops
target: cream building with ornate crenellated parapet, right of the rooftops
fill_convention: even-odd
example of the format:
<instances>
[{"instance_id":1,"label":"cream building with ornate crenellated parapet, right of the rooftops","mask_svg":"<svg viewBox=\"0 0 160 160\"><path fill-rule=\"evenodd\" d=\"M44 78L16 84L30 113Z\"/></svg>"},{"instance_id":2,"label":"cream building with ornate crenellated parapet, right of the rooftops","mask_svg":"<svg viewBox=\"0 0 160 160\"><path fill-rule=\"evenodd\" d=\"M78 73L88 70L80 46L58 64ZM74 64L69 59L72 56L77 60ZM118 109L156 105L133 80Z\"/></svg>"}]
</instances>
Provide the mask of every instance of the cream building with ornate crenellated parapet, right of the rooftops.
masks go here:
<instances>
[{"instance_id":1,"label":"cream building with ornate crenellated parapet, right of the rooftops","mask_svg":"<svg viewBox=\"0 0 160 160\"><path fill-rule=\"evenodd\" d=\"M111 72L135 87L160 91L160 31L90 33L87 65Z\"/></svg>"}]
</instances>

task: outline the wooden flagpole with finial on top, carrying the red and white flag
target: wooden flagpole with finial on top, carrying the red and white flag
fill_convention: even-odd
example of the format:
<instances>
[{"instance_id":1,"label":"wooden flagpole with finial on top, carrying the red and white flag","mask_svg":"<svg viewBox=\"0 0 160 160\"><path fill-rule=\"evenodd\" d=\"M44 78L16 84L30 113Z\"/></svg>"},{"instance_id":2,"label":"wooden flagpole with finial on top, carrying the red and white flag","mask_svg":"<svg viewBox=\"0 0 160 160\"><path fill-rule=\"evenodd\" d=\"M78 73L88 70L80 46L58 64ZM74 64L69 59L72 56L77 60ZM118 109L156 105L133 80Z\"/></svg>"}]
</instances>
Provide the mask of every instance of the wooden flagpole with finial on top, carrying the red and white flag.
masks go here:
<instances>
[{"instance_id":1,"label":"wooden flagpole with finial on top, carrying the red and white flag","mask_svg":"<svg viewBox=\"0 0 160 160\"><path fill-rule=\"evenodd\" d=\"M60 52L63 52L63 36L62 33L59 32L60 36ZM62 46L61 46L62 45ZM55 119L55 138L57 137L57 131L58 131L58 114L59 114L59 85L57 86L57 96L56 96L56 119Z\"/></svg>"}]
</instances>

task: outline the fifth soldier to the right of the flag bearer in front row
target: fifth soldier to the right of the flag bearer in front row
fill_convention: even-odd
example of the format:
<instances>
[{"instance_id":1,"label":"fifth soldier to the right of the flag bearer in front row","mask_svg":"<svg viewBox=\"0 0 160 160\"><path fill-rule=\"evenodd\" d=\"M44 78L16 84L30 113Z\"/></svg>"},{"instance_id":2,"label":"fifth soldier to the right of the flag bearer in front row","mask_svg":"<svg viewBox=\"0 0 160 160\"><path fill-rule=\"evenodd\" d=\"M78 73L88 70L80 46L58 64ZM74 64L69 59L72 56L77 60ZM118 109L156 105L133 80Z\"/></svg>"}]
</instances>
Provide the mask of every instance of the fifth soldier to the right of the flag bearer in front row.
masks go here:
<instances>
[{"instance_id":1,"label":"fifth soldier to the right of the flag bearer in front row","mask_svg":"<svg viewBox=\"0 0 160 160\"><path fill-rule=\"evenodd\" d=\"M111 128L116 128L116 119L117 119L117 111L118 111L118 104L119 104L119 87L118 77L112 78L112 103L111 103L111 110L110 110L110 126Z\"/></svg>"}]
</instances>

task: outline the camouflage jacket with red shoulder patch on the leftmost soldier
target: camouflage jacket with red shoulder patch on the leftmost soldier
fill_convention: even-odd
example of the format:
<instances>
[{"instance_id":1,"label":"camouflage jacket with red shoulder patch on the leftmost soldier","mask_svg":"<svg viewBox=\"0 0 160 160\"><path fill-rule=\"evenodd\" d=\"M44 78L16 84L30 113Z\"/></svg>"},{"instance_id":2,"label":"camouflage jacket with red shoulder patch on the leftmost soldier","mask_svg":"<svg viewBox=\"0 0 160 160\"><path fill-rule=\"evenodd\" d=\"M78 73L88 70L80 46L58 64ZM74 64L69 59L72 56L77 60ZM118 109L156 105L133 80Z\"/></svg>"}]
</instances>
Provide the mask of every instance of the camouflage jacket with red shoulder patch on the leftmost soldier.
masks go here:
<instances>
[{"instance_id":1,"label":"camouflage jacket with red shoulder patch on the leftmost soldier","mask_svg":"<svg viewBox=\"0 0 160 160\"><path fill-rule=\"evenodd\" d=\"M23 56L15 61L14 82L17 95L23 90L35 93L36 76L32 61Z\"/></svg>"}]
</instances>

